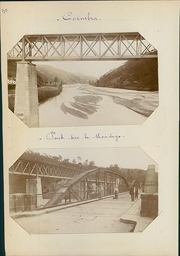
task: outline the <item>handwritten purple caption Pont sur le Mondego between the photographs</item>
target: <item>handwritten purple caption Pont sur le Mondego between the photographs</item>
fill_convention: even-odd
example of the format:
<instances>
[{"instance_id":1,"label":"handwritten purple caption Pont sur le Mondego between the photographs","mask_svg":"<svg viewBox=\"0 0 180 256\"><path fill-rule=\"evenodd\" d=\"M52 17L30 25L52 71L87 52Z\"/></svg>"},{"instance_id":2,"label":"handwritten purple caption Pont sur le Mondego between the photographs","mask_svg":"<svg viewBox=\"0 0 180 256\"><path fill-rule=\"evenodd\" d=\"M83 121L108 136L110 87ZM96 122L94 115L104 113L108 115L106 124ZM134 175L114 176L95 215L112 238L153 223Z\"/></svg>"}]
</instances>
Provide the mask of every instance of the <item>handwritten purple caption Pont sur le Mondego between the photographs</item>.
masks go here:
<instances>
[{"instance_id":1,"label":"handwritten purple caption Pont sur le Mondego between the photographs","mask_svg":"<svg viewBox=\"0 0 180 256\"><path fill-rule=\"evenodd\" d=\"M51 131L48 133L44 138L40 137L40 140L115 140L118 142L120 139L124 138L124 136L119 134L101 134L96 133L92 136L88 135L87 133L84 133L82 136L76 136L74 134L71 134L70 136L65 136L63 133L56 133L55 131Z\"/></svg>"}]
</instances>

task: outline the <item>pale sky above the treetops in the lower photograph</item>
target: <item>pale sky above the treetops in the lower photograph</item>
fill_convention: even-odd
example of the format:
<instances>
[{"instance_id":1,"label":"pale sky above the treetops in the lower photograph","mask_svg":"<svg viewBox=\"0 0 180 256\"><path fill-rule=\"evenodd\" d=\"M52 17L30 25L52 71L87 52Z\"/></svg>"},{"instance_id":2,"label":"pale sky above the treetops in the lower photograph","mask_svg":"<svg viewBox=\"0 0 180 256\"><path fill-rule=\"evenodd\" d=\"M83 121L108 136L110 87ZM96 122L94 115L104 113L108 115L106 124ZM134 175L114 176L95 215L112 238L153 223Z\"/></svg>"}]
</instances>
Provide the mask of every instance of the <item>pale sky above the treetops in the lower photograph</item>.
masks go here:
<instances>
[{"instance_id":1,"label":"pale sky above the treetops in the lower photograph","mask_svg":"<svg viewBox=\"0 0 180 256\"><path fill-rule=\"evenodd\" d=\"M70 149L31 149L40 154L61 155L63 159L77 160L82 158L82 163L88 159L93 160L97 166L109 167L110 164L118 164L119 167L138 168L146 170L149 164L155 164L158 171L158 164L155 163L140 148L70 148Z\"/></svg>"}]
</instances>

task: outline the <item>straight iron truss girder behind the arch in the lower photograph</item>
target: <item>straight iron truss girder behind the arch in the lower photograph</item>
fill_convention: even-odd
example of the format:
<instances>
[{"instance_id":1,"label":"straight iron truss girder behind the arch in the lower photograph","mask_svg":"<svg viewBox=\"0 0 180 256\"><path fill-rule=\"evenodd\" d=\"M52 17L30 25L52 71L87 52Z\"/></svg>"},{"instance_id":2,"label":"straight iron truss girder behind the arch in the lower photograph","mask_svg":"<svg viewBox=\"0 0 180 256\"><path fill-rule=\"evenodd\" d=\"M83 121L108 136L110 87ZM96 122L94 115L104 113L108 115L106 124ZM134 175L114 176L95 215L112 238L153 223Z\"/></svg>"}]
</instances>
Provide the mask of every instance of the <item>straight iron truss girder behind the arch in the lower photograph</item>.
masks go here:
<instances>
[{"instance_id":1,"label":"straight iron truss girder behind the arch in the lower photograph","mask_svg":"<svg viewBox=\"0 0 180 256\"><path fill-rule=\"evenodd\" d=\"M13 174L63 178L67 180L73 179L80 172L80 170L64 167L61 164L55 165L50 162L33 160L28 157L20 157L9 169L9 173Z\"/></svg>"}]
</instances>

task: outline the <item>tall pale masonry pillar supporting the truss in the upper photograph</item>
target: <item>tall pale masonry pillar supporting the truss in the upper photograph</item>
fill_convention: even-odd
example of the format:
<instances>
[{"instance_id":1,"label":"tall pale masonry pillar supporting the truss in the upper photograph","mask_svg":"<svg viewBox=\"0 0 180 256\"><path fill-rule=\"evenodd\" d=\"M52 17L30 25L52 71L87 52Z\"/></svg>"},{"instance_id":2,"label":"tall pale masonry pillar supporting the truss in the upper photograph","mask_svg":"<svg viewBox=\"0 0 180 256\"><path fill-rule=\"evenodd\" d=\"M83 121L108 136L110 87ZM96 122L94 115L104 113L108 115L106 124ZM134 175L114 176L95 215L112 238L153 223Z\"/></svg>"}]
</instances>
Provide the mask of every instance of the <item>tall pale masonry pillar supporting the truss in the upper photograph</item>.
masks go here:
<instances>
[{"instance_id":1,"label":"tall pale masonry pillar supporting the truss in the upper photograph","mask_svg":"<svg viewBox=\"0 0 180 256\"><path fill-rule=\"evenodd\" d=\"M28 127L38 127L38 91L36 65L17 62L14 114Z\"/></svg>"}]
</instances>

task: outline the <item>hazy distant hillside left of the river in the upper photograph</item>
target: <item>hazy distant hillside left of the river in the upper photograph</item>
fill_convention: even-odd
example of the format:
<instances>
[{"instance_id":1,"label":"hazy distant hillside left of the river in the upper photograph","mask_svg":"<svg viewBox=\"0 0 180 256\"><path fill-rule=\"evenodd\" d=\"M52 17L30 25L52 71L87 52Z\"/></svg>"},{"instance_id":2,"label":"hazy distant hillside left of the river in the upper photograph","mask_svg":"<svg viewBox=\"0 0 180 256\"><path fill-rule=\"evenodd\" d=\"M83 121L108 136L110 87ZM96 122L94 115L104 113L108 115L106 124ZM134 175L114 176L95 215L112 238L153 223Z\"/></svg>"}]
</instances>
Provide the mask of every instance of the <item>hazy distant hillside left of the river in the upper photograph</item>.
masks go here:
<instances>
[{"instance_id":1,"label":"hazy distant hillside left of the river in the upper photograph","mask_svg":"<svg viewBox=\"0 0 180 256\"><path fill-rule=\"evenodd\" d=\"M8 62L8 78L16 77L16 62ZM89 81L96 81L93 76L84 75L82 73L70 73L50 65L39 65L37 64L37 83L38 85L47 82L54 82L55 78L58 78L59 82L63 84L70 83L88 83Z\"/></svg>"}]
</instances>

